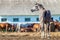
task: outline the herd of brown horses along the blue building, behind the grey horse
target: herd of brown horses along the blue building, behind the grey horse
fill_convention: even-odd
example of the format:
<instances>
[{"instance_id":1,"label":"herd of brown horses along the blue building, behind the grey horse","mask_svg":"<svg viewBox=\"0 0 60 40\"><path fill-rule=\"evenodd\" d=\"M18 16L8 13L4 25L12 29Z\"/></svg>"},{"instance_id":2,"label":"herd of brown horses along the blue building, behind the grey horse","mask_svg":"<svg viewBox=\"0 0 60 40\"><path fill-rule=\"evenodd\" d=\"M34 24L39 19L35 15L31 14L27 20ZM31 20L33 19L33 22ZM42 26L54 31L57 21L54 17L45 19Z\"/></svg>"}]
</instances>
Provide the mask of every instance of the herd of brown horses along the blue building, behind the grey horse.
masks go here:
<instances>
[{"instance_id":1,"label":"herd of brown horses along the blue building, behind the grey horse","mask_svg":"<svg viewBox=\"0 0 60 40\"><path fill-rule=\"evenodd\" d=\"M15 31L16 26L10 24L10 23L0 23L0 31L5 30L5 31ZM41 28L41 25L39 23L34 23L32 26L28 26L27 28L20 28L21 32L25 31L39 31ZM55 31L60 31L60 22L52 22L51 23L51 32Z\"/></svg>"}]
</instances>

